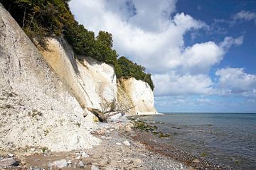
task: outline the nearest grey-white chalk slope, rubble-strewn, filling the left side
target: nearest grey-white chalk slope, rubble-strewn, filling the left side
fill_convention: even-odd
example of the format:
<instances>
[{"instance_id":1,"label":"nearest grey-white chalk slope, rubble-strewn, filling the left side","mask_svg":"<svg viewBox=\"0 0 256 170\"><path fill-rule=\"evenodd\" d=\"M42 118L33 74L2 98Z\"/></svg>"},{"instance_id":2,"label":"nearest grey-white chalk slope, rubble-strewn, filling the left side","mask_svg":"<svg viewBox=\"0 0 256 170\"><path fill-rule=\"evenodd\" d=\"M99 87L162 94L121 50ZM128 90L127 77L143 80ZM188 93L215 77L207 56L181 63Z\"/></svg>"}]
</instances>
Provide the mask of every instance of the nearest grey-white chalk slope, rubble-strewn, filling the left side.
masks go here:
<instances>
[{"instance_id":1,"label":"nearest grey-white chalk slope, rubble-strewn, filling the left side","mask_svg":"<svg viewBox=\"0 0 256 170\"><path fill-rule=\"evenodd\" d=\"M90 135L94 124L80 106L87 101L77 101L73 86L56 76L1 4L0 42L0 149L97 145L100 140Z\"/></svg>"}]
</instances>

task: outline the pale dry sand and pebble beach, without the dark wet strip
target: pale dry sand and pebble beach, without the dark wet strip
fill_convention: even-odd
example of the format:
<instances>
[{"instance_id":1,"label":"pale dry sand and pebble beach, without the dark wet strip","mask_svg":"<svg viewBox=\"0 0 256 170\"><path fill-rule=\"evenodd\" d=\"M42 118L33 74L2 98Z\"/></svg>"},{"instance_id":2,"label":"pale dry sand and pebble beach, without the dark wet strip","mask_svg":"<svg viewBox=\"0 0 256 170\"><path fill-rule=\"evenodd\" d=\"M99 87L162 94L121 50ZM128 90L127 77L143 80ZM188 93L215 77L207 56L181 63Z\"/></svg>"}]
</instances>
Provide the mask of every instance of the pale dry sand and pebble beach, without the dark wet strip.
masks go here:
<instances>
[{"instance_id":1,"label":"pale dry sand and pebble beach, without the dark wet strip","mask_svg":"<svg viewBox=\"0 0 256 170\"><path fill-rule=\"evenodd\" d=\"M70 152L42 152L38 148L20 148L0 151L3 159L14 159L18 166L0 166L0 169L185 169L181 162L163 154L150 151L142 142L134 140L137 134L129 120L98 123L92 135L100 138L100 145L92 149ZM1 160L3 160L1 159ZM0 161L1 164L1 161Z\"/></svg>"}]
</instances>

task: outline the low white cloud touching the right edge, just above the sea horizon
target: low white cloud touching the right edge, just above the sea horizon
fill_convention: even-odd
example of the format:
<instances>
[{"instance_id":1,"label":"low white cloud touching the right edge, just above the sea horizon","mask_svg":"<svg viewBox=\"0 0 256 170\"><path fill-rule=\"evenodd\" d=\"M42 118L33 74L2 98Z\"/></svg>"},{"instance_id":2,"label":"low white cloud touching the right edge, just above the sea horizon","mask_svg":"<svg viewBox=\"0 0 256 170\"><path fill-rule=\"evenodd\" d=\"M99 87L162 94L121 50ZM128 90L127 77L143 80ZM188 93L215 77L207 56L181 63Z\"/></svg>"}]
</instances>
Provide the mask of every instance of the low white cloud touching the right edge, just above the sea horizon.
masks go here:
<instances>
[{"instance_id":1,"label":"low white cloud touching the right edge, just above the sea horizon","mask_svg":"<svg viewBox=\"0 0 256 170\"><path fill-rule=\"evenodd\" d=\"M256 75L247 74L242 68L218 69L218 88L223 94L256 96Z\"/></svg>"}]
</instances>

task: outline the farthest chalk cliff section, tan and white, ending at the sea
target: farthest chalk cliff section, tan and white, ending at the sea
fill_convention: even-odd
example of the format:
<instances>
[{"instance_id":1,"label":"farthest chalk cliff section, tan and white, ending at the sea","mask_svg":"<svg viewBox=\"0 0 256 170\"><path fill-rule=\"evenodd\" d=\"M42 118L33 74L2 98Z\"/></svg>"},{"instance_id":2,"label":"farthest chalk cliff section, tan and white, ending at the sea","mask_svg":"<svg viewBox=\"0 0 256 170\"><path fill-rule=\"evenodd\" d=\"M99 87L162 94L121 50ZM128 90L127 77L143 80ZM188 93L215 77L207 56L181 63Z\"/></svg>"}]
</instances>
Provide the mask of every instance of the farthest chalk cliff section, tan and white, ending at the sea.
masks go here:
<instances>
[{"instance_id":1,"label":"farthest chalk cliff section, tan and white, ending at the sea","mask_svg":"<svg viewBox=\"0 0 256 170\"><path fill-rule=\"evenodd\" d=\"M118 100L127 106L135 106L129 111L129 115L154 114L154 94L149 84L134 79L119 79Z\"/></svg>"}]
</instances>

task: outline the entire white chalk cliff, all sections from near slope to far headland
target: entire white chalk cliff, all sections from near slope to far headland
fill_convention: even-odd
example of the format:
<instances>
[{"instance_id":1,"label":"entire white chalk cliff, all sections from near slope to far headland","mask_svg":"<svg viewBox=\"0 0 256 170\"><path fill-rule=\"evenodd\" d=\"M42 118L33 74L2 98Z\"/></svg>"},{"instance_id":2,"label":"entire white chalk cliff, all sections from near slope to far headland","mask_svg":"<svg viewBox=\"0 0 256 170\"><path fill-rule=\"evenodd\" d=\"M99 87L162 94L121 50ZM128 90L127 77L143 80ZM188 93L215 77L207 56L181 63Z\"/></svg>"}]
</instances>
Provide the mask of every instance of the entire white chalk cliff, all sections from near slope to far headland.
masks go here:
<instances>
[{"instance_id":1,"label":"entire white chalk cliff, all sections from near slope to far headland","mask_svg":"<svg viewBox=\"0 0 256 170\"><path fill-rule=\"evenodd\" d=\"M0 42L0 149L98 145L86 108L101 109L104 101L135 106L129 115L156 113L148 84L117 82L111 65L75 55L63 38L48 39L48 50L39 51L1 4Z\"/></svg>"}]
</instances>

